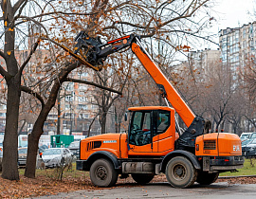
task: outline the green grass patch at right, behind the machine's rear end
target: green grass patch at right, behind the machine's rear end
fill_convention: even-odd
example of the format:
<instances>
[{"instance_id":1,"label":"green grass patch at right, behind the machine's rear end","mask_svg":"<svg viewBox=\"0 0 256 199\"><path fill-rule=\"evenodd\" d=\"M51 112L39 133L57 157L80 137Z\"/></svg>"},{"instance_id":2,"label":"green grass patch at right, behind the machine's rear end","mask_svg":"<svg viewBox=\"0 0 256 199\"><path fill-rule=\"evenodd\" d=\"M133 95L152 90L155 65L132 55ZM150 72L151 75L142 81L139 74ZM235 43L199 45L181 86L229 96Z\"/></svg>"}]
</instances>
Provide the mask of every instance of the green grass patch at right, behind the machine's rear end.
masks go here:
<instances>
[{"instance_id":1,"label":"green grass patch at right, behind the machine's rear end","mask_svg":"<svg viewBox=\"0 0 256 199\"><path fill-rule=\"evenodd\" d=\"M254 164L251 166L250 161ZM238 170L238 172L223 172L220 176L238 176L238 175L256 175L256 159L246 159L244 168Z\"/></svg>"}]
</instances>

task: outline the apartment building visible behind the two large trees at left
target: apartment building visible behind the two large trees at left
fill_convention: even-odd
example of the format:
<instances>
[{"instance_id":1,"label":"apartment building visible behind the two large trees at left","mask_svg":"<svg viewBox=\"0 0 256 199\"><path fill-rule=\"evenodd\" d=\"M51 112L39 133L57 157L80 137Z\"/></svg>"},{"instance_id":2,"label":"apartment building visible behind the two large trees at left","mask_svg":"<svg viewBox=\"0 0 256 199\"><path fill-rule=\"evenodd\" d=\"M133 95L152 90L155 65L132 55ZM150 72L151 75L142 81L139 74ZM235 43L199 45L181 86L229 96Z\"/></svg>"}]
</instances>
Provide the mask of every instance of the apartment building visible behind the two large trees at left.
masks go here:
<instances>
[{"instance_id":1,"label":"apartment building visible behind the two large trees at left","mask_svg":"<svg viewBox=\"0 0 256 199\"><path fill-rule=\"evenodd\" d=\"M28 49L24 50L16 50L15 57L19 64L24 63L27 59L27 55L29 53ZM47 65L45 60L49 56L49 51L46 49L38 49L35 54L31 57L29 63L27 63L27 67L25 68L25 75L29 74L26 79L30 79L31 81L27 81L27 85L29 82L37 82L45 78L47 70L50 70L52 65ZM0 57L1 65L5 67L5 61ZM87 72L72 72L69 77L73 79L87 80L92 81L92 77ZM5 92L7 89L6 82L3 80L3 77L0 77L0 133L5 130L5 122L6 122L6 97ZM24 80L22 80L24 81ZM25 80L26 81L26 80ZM32 85L32 84L31 84ZM40 89L38 86L36 89ZM60 118L60 133L61 134L73 134L73 135L84 135L86 136L88 133L89 125L92 120L94 124L91 126L90 135L97 135L101 132L101 125L99 123L98 118L94 119L96 113L98 113L98 106L93 105L92 101L94 101L93 96L91 95L90 88L82 83L77 82L64 82L59 100L56 102L56 105L52 108L49 113L44 127L44 134L56 134L57 133L57 123L58 118ZM32 101L35 103L36 100ZM27 101L27 103L31 103ZM23 104L21 108L21 119L26 120L26 125L24 126L22 134L27 134L31 131L33 123L34 123L34 114L30 113L30 106L26 102ZM60 116L58 117L58 103L60 108ZM38 114L38 113L37 113ZM33 118L33 119L32 119ZM22 126L20 123L20 126Z\"/></svg>"}]
</instances>

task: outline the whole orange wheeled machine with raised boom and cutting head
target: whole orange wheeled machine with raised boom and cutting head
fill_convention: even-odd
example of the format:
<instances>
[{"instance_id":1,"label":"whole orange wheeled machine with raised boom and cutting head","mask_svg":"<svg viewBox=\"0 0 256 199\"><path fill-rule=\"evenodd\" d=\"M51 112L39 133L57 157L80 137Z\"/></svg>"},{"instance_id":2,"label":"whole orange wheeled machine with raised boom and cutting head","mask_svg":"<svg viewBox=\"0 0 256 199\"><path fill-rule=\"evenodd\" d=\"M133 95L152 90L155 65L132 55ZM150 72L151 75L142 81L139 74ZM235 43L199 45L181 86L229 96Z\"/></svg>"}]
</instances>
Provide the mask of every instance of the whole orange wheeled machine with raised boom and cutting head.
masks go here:
<instances>
[{"instance_id":1,"label":"whole orange wheeled machine with raised boom and cutting head","mask_svg":"<svg viewBox=\"0 0 256 199\"><path fill-rule=\"evenodd\" d=\"M81 32L76 41L75 53L94 66L103 64L108 55L130 47L167 104L129 108L128 134L82 139L77 170L89 171L94 185L111 187L119 175L125 178L129 174L137 183L145 184L156 174L165 173L173 187L188 188L194 182L209 185L220 172L235 172L243 167L245 160L239 136L210 134L210 121L193 114L143 48L138 35L101 44L99 38ZM175 112L188 127L184 132L175 122Z\"/></svg>"}]
</instances>

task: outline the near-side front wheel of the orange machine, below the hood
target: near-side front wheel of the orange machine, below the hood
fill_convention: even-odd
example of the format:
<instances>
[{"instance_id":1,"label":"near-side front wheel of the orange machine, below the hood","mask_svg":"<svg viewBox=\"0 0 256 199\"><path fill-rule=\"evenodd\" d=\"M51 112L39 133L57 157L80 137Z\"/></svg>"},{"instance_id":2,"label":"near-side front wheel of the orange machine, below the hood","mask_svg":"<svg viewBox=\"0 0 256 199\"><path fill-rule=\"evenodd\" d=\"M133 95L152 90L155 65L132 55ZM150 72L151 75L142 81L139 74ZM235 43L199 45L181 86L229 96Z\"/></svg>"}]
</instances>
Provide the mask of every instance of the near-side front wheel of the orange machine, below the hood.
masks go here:
<instances>
[{"instance_id":1,"label":"near-side front wheel of the orange machine, below the hood","mask_svg":"<svg viewBox=\"0 0 256 199\"><path fill-rule=\"evenodd\" d=\"M117 183L118 172L113 164L107 159L96 160L90 168L92 183L101 188L112 187Z\"/></svg>"}]
</instances>

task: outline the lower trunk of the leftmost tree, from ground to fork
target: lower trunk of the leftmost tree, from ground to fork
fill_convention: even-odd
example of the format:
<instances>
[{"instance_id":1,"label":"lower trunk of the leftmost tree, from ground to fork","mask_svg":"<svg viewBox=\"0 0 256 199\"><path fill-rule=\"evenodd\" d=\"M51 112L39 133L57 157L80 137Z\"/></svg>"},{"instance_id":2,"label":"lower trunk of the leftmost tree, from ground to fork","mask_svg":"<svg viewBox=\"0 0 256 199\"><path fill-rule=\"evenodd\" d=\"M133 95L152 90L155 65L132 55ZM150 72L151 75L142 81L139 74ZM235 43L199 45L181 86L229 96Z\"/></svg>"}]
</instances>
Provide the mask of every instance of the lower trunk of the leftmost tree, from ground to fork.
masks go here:
<instances>
[{"instance_id":1,"label":"lower trunk of the leftmost tree, from ground to fork","mask_svg":"<svg viewBox=\"0 0 256 199\"><path fill-rule=\"evenodd\" d=\"M20 79L12 78L8 81L7 118L2 162L2 177L9 180L19 180L17 149L20 95Z\"/></svg>"}]
</instances>

